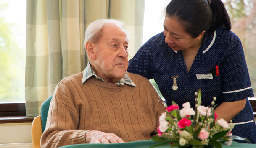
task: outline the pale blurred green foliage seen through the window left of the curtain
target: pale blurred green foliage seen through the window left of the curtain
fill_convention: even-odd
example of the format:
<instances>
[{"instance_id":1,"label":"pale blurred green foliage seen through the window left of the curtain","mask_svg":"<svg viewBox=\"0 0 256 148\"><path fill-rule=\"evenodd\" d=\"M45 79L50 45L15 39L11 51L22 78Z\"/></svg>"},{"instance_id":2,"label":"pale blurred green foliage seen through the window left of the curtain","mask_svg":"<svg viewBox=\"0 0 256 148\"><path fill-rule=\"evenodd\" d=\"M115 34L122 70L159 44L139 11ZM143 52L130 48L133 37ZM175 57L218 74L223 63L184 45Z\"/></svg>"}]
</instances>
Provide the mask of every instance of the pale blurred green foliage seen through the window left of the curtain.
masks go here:
<instances>
[{"instance_id":1,"label":"pale blurred green foliage seen through the window left of the curtain","mask_svg":"<svg viewBox=\"0 0 256 148\"><path fill-rule=\"evenodd\" d=\"M0 13L7 6L0 5ZM15 41L13 27L16 26L0 18L0 101L24 100L24 54Z\"/></svg>"}]
</instances>

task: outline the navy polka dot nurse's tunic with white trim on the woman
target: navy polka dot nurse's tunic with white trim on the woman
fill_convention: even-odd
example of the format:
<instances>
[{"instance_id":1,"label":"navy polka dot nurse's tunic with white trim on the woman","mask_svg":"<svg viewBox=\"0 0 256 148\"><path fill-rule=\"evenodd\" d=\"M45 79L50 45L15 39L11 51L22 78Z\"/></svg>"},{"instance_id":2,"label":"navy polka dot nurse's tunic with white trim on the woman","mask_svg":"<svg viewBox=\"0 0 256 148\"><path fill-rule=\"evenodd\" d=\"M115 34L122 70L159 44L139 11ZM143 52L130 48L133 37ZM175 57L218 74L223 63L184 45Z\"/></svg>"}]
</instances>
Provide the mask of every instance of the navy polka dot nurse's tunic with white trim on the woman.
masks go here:
<instances>
[{"instance_id":1,"label":"navy polka dot nurse's tunic with white trim on the woman","mask_svg":"<svg viewBox=\"0 0 256 148\"><path fill-rule=\"evenodd\" d=\"M187 101L195 106L194 94L198 89L202 90L204 106L211 105L212 97L217 98L216 104L253 97L243 47L232 31L221 26L214 33L205 33L190 71L187 71L182 51L172 50L164 39L162 32L146 42L129 60L127 71L155 79L168 106L172 105L172 100L179 106ZM198 79L197 74L212 74L213 79ZM178 76L176 91L172 89L172 76ZM233 135L256 143L256 125L248 99L245 108L232 121L235 123Z\"/></svg>"}]
</instances>

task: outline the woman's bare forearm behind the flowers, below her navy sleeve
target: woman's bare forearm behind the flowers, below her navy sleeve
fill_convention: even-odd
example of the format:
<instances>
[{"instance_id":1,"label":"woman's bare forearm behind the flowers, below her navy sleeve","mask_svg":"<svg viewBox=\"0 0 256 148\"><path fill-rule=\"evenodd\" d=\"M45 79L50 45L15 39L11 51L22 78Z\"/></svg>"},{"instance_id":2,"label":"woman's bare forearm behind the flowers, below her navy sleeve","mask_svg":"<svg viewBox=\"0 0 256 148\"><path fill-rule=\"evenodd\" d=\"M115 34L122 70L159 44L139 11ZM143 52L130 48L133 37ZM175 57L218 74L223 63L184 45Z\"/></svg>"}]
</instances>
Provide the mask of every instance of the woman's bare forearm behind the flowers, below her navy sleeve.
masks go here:
<instances>
[{"instance_id":1,"label":"woman's bare forearm behind the flowers, below her navy sleeve","mask_svg":"<svg viewBox=\"0 0 256 148\"><path fill-rule=\"evenodd\" d=\"M227 122L230 121L235 115L237 115L245 107L246 99L234 101L234 102L223 102L219 105L214 112L217 113L217 120L223 118Z\"/></svg>"}]
</instances>

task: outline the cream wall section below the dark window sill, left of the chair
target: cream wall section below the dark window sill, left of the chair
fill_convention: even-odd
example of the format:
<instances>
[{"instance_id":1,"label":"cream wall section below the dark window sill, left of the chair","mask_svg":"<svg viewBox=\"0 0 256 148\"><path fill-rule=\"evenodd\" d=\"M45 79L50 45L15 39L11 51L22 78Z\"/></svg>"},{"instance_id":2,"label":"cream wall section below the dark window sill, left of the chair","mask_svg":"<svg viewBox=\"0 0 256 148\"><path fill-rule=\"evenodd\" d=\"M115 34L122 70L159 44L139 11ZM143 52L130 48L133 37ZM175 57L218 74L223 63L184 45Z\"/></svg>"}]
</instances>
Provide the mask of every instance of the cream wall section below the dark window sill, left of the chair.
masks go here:
<instances>
[{"instance_id":1,"label":"cream wall section below the dark window sill, left of the chair","mask_svg":"<svg viewBox=\"0 0 256 148\"><path fill-rule=\"evenodd\" d=\"M0 144L31 143L32 123L0 124Z\"/></svg>"}]
</instances>

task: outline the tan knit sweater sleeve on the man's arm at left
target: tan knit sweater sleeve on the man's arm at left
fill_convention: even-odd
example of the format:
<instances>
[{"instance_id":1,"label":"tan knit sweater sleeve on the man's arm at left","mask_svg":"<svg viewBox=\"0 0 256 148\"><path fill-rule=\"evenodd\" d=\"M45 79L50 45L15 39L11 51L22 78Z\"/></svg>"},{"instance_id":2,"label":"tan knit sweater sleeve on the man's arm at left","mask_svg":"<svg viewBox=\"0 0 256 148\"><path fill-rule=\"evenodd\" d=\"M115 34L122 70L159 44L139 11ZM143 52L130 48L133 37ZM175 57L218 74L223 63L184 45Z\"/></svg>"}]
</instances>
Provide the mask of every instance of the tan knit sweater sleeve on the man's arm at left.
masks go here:
<instances>
[{"instance_id":1,"label":"tan knit sweater sleeve on the man's arm at left","mask_svg":"<svg viewBox=\"0 0 256 148\"><path fill-rule=\"evenodd\" d=\"M65 85L58 84L58 89L50 102L46 128L41 137L42 148L86 143L87 131L77 130L79 115L74 102L70 99L71 94L67 92L69 89L65 88Z\"/></svg>"}]
</instances>

